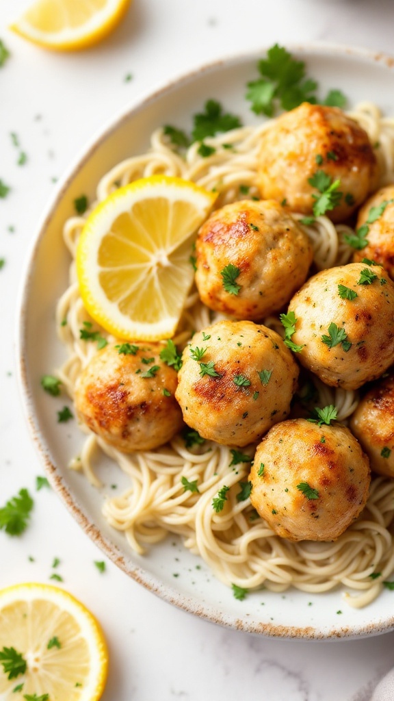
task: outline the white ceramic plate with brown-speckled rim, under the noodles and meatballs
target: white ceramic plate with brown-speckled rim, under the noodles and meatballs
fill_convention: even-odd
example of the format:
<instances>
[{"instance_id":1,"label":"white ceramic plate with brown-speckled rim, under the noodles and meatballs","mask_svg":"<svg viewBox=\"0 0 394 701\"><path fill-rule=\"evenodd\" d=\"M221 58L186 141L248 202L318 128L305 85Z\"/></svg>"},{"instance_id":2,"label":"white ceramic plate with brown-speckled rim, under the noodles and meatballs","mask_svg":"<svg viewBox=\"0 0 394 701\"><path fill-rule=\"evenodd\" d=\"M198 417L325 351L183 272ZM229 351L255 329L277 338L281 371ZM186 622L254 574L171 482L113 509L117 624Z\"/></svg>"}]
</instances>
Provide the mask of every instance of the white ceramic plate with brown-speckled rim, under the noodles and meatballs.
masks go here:
<instances>
[{"instance_id":1,"label":"white ceramic plate with brown-speckled rim, under the noodles and meatballs","mask_svg":"<svg viewBox=\"0 0 394 701\"><path fill-rule=\"evenodd\" d=\"M350 104L372 100L386 114L394 114L393 60L358 50L332 47L290 47L306 61L308 75L320 83L321 95L341 88ZM146 557L131 552L121 533L112 530L101 514L105 494L127 483L116 465L102 459L99 474L105 485L98 490L79 473L67 468L83 442L73 426L54 421L55 408L64 401L48 397L40 387L43 374L60 365L64 348L55 332L55 304L67 286L69 256L62 243L62 225L73 215L73 200L81 193L93 198L98 179L127 156L142 153L149 135L170 123L190 128L191 115L210 97L239 114L244 123L257 123L245 100L245 84L257 77L256 62L264 55L224 60L170 83L131 107L109 125L76 161L57 189L43 217L29 257L20 301L18 348L20 379L34 442L51 484L86 533L129 576L166 601L203 618L276 637L355 637L394 629L394 594L383 592L361 610L348 607L341 592L311 595L290 590L285 594L256 592L244 601L219 583L199 559L184 550L176 538L154 547ZM64 399L64 398L63 398ZM201 565L201 569L196 566ZM177 575L176 577L174 575ZM342 613L337 613L341 611Z\"/></svg>"}]
</instances>

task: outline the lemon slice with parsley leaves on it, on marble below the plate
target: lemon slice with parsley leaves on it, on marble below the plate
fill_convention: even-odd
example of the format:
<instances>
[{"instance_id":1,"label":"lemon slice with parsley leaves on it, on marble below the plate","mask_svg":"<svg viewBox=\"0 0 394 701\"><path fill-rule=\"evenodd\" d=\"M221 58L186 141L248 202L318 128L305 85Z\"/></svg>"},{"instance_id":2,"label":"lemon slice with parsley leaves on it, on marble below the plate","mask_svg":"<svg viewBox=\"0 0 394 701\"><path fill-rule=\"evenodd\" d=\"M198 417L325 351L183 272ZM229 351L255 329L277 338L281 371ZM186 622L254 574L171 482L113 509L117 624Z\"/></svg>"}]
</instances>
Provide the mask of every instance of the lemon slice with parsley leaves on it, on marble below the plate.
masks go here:
<instances>
[{"instance_id":1,"label":"lemon slice with parsley leaves on it, on marble below the plate","mask_svg":"<svg viewBox=\"0 0 394 701\"><path fill-rule=\"evenodd\" d=\"M21 584L0 591L0 652L2 701L34 694L49 701L97 701L102 695L108 653L100 626L58 587Z\"/></svg>"}]
</instances>

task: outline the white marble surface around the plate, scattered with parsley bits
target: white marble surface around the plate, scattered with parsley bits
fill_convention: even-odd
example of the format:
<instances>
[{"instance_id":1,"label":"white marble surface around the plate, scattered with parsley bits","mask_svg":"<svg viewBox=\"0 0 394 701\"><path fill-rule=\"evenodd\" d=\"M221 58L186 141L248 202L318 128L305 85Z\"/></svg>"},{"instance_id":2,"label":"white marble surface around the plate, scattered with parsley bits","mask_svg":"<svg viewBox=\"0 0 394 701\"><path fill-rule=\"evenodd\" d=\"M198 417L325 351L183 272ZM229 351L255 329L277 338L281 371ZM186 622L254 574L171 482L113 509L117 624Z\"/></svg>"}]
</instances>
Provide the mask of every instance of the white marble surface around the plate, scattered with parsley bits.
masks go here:
<instances>
[{"instance_id":1,"label":"white marble surface around the plate, scattered with parsley bits","mask_svg":"<svg viewBox=\"0 0 394 701\"><path fill-rule=\"evenodd\" d=\"M26 251L54 180L118 110L202 62L275 41L390 52L394 4L243 0L230 11L228 0L135 0L107 41L75 55L46 53L8 32L25 4L1 0L0 11L0 38L12 54L0 69L0 178L11 186L0 200L0 259L6 261L0 271L0 503L25 486L35 506L22 538L0 532L0 586L46 582L53 558L60 558L64 587L90 606L107 635L111 665L103 701L369 701L394 663L394 634L358 641L262 639L178 611L111 562L104 574L97 571L93 561L102 553L53 491L35 491L43 468L18 393L14 327ZM27 154L23 166L10 132Z\"/></svg>"}]
</instances>

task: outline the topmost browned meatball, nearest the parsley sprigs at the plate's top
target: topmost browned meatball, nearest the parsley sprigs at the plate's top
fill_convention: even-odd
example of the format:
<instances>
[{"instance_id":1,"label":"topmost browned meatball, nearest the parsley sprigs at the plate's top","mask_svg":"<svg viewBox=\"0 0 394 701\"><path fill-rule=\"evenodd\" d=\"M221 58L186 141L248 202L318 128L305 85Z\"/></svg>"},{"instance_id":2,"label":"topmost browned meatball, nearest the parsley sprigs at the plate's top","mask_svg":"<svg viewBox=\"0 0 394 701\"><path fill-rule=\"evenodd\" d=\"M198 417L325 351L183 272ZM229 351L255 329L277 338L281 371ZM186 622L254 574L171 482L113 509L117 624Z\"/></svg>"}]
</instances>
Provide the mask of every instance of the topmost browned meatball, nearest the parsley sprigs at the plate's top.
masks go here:
<instances>
[{"instance_id":1,"label":"topmost browned meatball, nearest the parsley sprigs at the plate's top","mask_svg":"<svg viewBox=\"0 0 394 701\"><path fill-rule=\"evenodd\" d=\"M327 212L333 222L347 219L376 182L376 158L367 132L337 107L304 102L281 115L261 135L259 190L264 199L286 201L293 212L310 215L319 190L317 171L339 179L341 198ZM329 184L330 184L329 183Z\"/></svg>"}]
</instances>

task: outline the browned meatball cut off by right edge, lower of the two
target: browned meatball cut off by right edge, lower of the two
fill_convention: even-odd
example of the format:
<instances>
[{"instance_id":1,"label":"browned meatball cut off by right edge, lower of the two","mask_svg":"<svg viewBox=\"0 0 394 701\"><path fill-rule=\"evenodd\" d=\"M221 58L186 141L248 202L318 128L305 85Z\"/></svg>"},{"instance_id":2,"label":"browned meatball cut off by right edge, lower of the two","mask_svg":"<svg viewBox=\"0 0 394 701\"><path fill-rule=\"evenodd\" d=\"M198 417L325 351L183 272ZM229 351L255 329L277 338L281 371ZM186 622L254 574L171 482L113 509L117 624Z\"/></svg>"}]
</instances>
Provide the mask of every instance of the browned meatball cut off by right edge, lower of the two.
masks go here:
<instances>
[{"instance_id":1,"label":"browned meatball cut off by right edge, lower of the two","mask_svg":"<svg viewBox=\"0 0 394 701\"><path fill-rule=\"evenodd\" d=\"M394 477L394 373L377 383L358 404L351 430L367 453L371 468Z\"/></svg>"}]
</instances>

